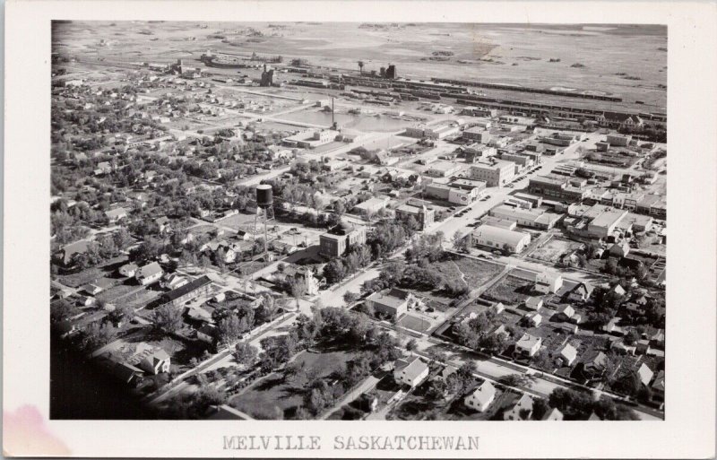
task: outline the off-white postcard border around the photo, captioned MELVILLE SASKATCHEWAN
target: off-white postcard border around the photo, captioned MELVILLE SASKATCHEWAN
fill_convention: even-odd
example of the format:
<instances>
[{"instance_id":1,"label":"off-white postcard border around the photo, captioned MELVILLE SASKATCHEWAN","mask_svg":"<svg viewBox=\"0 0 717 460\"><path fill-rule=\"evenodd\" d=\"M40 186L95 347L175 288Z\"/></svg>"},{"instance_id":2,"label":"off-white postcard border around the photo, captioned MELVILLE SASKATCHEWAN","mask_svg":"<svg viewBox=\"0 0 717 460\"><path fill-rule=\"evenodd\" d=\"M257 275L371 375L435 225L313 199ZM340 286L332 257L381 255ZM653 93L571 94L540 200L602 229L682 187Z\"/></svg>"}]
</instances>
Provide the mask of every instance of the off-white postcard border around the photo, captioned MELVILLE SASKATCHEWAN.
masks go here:
<instances>
[{"instance_id":1,"label":"off-white postcard border around the photo, captioned MELVILLE SASKATCHEWAN","mask_svg":"<svg viewBox=\"0 0 717 460\"><path fill-rule=\"evenodd\" d=\"M717 6L698 2L62 2L5 13L4 412L33 404L73 456L241 456L232 434L324 437L246 456L710 457L715 432ZM659 23L669 30L666 421L47 421L50 21ZM334 451L334 434L480 436L476 451ZM6 442L5 442L5 445ZM42 443L7 455L52 455ZM34 449L34 450L32 450Z\"/></svg>"}]
</instances>

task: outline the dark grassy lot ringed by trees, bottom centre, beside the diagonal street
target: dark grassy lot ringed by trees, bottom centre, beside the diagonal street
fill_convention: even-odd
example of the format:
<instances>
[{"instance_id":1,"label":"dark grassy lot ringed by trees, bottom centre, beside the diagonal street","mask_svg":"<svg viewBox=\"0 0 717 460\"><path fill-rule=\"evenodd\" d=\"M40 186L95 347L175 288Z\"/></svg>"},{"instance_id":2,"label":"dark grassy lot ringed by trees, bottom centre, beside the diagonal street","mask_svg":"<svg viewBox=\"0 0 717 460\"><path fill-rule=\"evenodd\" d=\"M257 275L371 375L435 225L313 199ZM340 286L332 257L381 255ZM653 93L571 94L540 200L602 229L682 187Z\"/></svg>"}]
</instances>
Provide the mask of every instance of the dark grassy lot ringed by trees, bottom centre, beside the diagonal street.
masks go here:
<instances>
[{"instance_id":1,"label":"dark grassy lot ringed by trees, bottom centre, beside the diagonal street","mask_svg":"<svg viewBox=\"0 0 717 460\"><path fill-rule=\"evenodd\" d=\"M296 360L304 366L302 375L291 380L284 378L283 372L269 375L249 386L230 404L256 419L292 418L304 404L306 376L313 374L317 378L327 378L342 369L353 355L352 352L301 352Z\"/></svg>"}]
</instances>

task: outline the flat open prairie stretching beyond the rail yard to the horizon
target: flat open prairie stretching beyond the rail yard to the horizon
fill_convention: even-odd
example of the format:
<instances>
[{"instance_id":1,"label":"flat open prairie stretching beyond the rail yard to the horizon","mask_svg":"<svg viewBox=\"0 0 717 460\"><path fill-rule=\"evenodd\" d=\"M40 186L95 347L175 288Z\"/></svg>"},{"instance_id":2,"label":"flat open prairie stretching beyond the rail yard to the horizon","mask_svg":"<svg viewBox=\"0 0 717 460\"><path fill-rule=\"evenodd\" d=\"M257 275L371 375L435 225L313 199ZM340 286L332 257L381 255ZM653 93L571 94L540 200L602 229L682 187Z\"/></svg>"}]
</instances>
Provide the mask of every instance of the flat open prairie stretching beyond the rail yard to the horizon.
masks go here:
<instances>
[{"instance_id":1,"label":"flat open prairie stretching beyond the rail yard to the horizon","mask_svg":"<svg viewBox=\"0 0 717 460\"><path fill-rule=\"evenodd\" d=\"M365 72L393 63L401 76L453 74L467 80L617 93L643 101L647 109L666 104L667 30L659 25L616 24L595 30L579 24L284 22L277 30L263 22L212 22L202 30L195 22L161 22L147 24L151 38L159 40L145 51L143 44L150 37L139 33L137 24L112 24L58 24L53 45L95 60L104 56L116 62L167 63L180 56L189 65L200 65L198 58L208 48L246 57L253 52L275 56L281 49L285 61L301 57L342 71L358 71L356 63L363 59ZM258 36L249 37L254 31ZM100 46L99 39L108 46ZM448 50L452 56L446 59L434 56ZM215 69L221 70L236 74Z\"/></svg>"}]
</instances>

